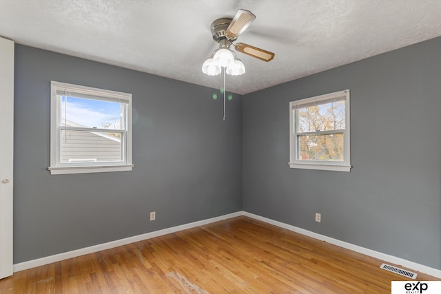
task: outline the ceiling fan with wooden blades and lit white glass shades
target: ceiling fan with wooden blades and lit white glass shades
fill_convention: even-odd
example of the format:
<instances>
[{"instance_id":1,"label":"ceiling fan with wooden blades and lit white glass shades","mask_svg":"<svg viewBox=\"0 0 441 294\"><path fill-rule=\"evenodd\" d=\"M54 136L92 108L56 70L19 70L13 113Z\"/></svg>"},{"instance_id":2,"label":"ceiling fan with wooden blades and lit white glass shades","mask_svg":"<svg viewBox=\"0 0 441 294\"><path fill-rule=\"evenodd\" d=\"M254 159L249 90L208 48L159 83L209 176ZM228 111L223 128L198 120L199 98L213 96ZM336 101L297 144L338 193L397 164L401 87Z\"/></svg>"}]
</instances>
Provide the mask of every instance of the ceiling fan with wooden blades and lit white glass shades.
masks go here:
<instances>
[{"instance_id":1,"label":"ceiling fan with wooden blades and lit white glass shades","mask_svg":"<svg viewBox=\"0 0 441 294\"><path fill-rule=\"evenodd\" d=\"M212 23L212 35L214 41L219 43L212 56L207 59L202 66L202 71L210 76L220 74L222 67L227 74L233 76L244 74L245 66L240 59L236 59L236 54L230 50L230 46L238 52L245 53L262 61L271 61L274 59L274 53L263 50L245 43L233 43L238 36L242 34L249 25L256 19L256 16L248 10L240 9L234 19L221 18Z\"/></svg>"}]
</instances>

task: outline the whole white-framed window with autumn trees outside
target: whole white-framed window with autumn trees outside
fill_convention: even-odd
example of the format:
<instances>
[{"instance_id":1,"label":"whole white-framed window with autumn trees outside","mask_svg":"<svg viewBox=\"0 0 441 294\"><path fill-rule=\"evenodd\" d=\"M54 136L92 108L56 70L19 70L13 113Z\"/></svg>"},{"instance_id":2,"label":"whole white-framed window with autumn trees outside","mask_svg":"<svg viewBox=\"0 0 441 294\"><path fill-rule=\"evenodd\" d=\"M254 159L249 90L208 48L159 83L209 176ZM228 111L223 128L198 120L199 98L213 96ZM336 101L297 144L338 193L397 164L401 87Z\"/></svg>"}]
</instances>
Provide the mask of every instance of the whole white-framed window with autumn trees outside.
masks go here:
<instances>
[{"instance_id":1,"label":"whole white-framed window with autumn trees outside","mask_svg":"<svg viewBox=\"0 0 441 294\"><path fill-rule=\"evenodd\" d=\"M349 90L289 103L289 166L350 171Z\"/></svg>"}]
</instances>

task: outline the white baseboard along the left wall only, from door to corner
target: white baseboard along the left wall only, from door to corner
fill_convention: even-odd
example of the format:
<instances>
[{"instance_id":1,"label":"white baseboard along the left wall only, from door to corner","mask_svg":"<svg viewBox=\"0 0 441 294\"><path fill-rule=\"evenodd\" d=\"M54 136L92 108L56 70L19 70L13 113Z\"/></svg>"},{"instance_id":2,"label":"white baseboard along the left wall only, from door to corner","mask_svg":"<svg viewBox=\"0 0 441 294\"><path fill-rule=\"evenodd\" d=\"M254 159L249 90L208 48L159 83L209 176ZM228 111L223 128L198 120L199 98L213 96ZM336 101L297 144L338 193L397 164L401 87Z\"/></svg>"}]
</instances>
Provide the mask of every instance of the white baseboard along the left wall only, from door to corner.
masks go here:
<instances>
[{"instance_id":1,"label":"white baseboard along the left wall only, from door to corner","mask_svg":"<svg viewBox=\"0 0 441 294\"><path fill-rule=\"evenodd\" d=\"M169 233L175 233L177 231L183 231L186 229L191 229L194 227L203 226L204 224L210 224L212 222L218 222L219 220L227 220L228 218L236 218L237 216L243 216L243 211L238 211L235 213L229 213L225 216L218 216L217 218L209 218L207 220L200 220L198 222L191 222L189 224L181 224L180 226L163 229L159 231L154 231L150 233L145 233L141 235L136 235L129 238L124 238L121 240L116 240L112 242L107 242L103 244L98 244L90 247L85 247L81 249L76 249L68 252L63 252L55 255L46 256L45 258L38 258L37 260L29 260L27 262L20 262L18 264L14 264L13 270L16 271L23 271L25 269L32 269L37 266L42 266L45 264L50 264L52 262L59 262L61 260L67 260L68 258L76 258L80 255L90 254L94 252L98 252L105 249L112 249L114 247L123 246L126 244L139 242L142 240L147 240L150 238L158 237L160 235L166 235Z\"/></svg>"}]
</instances>

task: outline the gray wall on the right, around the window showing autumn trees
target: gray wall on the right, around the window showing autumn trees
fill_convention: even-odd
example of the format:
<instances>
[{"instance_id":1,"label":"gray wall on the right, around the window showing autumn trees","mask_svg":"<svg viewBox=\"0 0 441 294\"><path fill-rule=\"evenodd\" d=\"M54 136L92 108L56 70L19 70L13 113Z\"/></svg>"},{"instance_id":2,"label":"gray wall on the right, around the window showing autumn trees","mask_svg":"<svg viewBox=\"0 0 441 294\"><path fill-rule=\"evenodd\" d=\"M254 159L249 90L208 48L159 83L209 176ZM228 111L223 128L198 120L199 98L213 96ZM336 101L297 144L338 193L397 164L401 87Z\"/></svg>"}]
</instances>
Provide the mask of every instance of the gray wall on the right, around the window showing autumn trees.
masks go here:
<instances>
[{"instance_id":1,"label":"gray wall on the right, around the window showing autumn trees","mask_svg":"<svg viewBox=\"0 0 441 294\"><path fill-rule=\"evenodd\" d=\"M432 39L245 95L243 209L441 269L440 52ZM289 101L345 89L353 169L290 169Z\"/></svg>"}]
</instances>

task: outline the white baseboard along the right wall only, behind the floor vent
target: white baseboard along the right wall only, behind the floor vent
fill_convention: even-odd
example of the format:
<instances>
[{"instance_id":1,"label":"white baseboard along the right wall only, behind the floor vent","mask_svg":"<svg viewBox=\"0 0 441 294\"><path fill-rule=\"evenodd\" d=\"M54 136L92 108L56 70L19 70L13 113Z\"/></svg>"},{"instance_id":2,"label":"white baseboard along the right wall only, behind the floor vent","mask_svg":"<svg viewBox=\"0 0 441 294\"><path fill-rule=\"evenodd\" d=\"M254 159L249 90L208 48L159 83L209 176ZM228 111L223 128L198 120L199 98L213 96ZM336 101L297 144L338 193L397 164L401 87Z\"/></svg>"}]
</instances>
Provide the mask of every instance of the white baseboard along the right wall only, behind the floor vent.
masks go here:
<instances>
[{"instance_id":1,"label":"white baseboard along the right wall only, behind the floor vent","mask_svg":"<svg viewBox=\"0 0 441 294\"><path fill-rule=\"evenodd\" d=\"M320 235L318 233L314 233L311 231L307 231L305 229L300 229L298 227L291 226L291 224L285 224L283 222L278 222L276 220L271 220L269 218L264 218L262 216L257 216L253 213L245 212L243 213L243 216L248 216L249 218L254 218L256 220L260 220L262 222L267 222L268 224L274 224L277 227L281 227L283 229L287 229L289 231L294 231L296 233L300 233L302 235L307 235L308 237L325 241L330 244L334 244L337 246L340 246L345 249L349 249L352 251L356 251L358 253L362 253L368 256L371 256L372 258L378 258L379 260L384 260L386 262L391 262L393 264L401 265L404 267L407 267L408 269L413 269L415 271L420 271L421 273L426 273L427 275L432 275L433 277L441 278L441 271L439 269L433 269L429 266L425 266L422 264L418 264L416 262L411 262L409 260L404 260L402 258L397 258L393 255L384 254L378 251L373 251L371 249L364 248L362 246L354 245L348 242L340 241L334 238L327 237L325 235Z\"/></svg>"}]
</instances>

